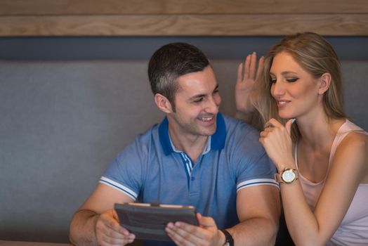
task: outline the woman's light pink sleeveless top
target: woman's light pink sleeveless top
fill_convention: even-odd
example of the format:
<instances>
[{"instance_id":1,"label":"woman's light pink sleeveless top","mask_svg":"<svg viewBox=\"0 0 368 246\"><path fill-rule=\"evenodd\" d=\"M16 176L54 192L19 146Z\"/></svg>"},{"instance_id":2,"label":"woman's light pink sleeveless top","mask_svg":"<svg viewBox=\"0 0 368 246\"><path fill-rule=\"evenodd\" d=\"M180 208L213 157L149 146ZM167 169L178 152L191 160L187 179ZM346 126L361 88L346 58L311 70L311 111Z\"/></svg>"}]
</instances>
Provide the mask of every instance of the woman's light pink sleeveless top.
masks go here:
<instances>
[{"instance_id":1,"label":"woman's light pink sleeveless top","mask_svg":"<svg viewBox=\"0 0 368 246\"><path fill-rule=\"evenodd\" d=\"M351 131L358 131L362 134L368 135L367 131L357 127L357 125L347 119L339 128L334 138L334 142L332 143L331 152L329 154L329 167L331 166L332 160L334 160L336 148L339 146L343 138L345 138ZM294 149L294 156L296 168L298 168L298 156L296 150L297 148ZM329 171L329 167L327 169L327 173ZM307 200L310 209L313 211L318 198L320 198L320 193L324 186L324 182L326 181L326 177L324 177L324 179L319 183L313 183L301 174L299 174L299 177L305 199ZM368 183L360 183L358 186L348 212L327 245L368 245Z\"/></svg>"}]
</instances>

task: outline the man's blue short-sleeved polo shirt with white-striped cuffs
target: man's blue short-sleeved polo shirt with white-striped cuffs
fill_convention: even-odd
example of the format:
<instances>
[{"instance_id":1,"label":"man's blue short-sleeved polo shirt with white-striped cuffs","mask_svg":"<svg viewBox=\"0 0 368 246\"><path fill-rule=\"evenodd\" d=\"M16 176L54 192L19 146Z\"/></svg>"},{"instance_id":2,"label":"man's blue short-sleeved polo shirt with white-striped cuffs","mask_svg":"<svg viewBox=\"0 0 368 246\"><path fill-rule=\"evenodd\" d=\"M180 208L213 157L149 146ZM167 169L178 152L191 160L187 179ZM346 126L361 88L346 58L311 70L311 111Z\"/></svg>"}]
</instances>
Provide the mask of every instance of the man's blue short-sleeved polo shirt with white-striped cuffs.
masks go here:
<instances>
[{"instance_id":1,"label":"man's blue short-sleeved polo shirt with white-striped cuffs","mask_svg":"<svg viewBox=\"0 0 368 246\"><path fill-rule=\"evenodd\" d=\"M218 228L239 223L237 191L277 186L272 162L258 142L256 129L219 113L216 132L196 163L173 148L168 120L137 136L110 164L101 183L138 202L193 205L215 219Z\"/></svg>"}]
</instances>

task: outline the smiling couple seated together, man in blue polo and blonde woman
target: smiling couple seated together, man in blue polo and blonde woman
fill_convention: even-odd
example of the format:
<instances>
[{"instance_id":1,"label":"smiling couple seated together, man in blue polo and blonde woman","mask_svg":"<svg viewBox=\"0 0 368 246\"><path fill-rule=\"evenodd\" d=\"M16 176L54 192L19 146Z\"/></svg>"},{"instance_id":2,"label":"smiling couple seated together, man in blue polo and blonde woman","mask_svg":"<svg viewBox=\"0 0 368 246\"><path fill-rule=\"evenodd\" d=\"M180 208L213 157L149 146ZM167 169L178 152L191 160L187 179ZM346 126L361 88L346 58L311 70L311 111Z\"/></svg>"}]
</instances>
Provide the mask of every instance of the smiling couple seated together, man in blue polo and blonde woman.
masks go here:
<instances>
[{"instance_id":1,"label":"smiling couple seated together, man in blue polo and blonde woman","mask_svg":"<svg viewBox=\"0 0 368 246\"><path fill-rule=\"evenodd\" d=\"M254 53L239 65L235 98L261 134L218 112L218 84L202 51L159 48L148 76L166 117L110 164L74 214L71 242L133 242L114 203L159 201L195 206L199 226L172 221L173 242L147 245L274 245L281 193L296 245L367 245L368 136L343 113L336 53L320 35L303 33L282 39L258 67L256 60Z\"/></svg>"}]
</instances>

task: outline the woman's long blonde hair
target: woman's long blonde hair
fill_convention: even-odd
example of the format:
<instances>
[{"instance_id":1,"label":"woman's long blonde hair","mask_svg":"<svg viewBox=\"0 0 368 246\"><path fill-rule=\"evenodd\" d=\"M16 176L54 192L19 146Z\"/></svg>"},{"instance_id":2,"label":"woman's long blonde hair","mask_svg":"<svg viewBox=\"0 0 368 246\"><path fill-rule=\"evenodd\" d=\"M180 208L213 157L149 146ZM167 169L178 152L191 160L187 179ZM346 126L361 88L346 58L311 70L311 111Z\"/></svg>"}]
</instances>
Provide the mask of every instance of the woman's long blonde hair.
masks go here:
<instances>
[{"instance_id":1,"label":"woman's long blonde hair","mask_svg":"<svg viewBox=\"0 0 368 246\"><path fill-rule=\"evenodd\" d=\"M258 110L259 124L265 124L269 119L275 118L281 122L277 112L277 105L272 98L270 89L270 68L273 58L280 53L287 52L303 69L316 79L324 73L331 75L329 89L323 95L323 108L328 119L340 119L346 117L343 112L343 93L341 79L341 64L331 44L324 37L313 32L298 33L285 37L280 43L272 46L265 56L263 72L256 83L252 103ZM293 140L298 136L296 124L293 124Z\"/></svg>"}]
</instances>

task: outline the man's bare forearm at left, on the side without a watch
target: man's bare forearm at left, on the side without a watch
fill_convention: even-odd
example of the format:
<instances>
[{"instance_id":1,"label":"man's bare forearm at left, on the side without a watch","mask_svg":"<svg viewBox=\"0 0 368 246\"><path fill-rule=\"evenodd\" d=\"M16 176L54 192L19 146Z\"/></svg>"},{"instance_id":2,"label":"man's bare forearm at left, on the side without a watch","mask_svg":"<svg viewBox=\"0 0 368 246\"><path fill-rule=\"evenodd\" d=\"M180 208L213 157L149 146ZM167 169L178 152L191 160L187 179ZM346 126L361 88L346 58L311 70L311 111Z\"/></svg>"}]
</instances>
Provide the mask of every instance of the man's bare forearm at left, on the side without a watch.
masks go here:
<instances>
[{"instance_id":1,"label":"man's bare forearm at left, on the side without a watch","mask_svg":"<svg viewBox=\"0 0 368 246\"><path fill-rule=\"evenodd\" d=\"M70 242L77 246L98 245L96 240L96 221L99 214L91 210L82 209L74 214L70 223Z\"/></svg>"}]
</instances>

